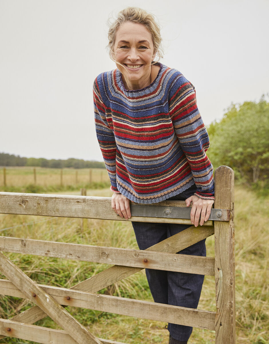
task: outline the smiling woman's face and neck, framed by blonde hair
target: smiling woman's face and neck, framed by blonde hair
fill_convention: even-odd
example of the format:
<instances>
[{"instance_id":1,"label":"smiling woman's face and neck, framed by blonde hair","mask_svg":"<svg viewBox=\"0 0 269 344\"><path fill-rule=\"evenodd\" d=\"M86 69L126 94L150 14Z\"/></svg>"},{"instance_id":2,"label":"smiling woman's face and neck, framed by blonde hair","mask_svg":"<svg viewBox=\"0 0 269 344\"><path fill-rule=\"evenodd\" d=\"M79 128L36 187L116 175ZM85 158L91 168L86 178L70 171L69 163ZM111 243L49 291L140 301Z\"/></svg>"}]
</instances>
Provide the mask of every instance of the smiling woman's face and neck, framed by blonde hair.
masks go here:
<instances>
[{"instance_id":1,"label":"smiling woman's face and neck, framed by blonde hair","mask_svg":"<svg viewBox=\"0 0 269 344\"><path fill-rule=\"evenodd\" d=\"M114 58L128 89L150 84L154 57L152 35L144 25L126 22L120 26L115 36Z\"/></svg>"}]
</instances>

